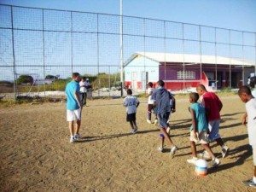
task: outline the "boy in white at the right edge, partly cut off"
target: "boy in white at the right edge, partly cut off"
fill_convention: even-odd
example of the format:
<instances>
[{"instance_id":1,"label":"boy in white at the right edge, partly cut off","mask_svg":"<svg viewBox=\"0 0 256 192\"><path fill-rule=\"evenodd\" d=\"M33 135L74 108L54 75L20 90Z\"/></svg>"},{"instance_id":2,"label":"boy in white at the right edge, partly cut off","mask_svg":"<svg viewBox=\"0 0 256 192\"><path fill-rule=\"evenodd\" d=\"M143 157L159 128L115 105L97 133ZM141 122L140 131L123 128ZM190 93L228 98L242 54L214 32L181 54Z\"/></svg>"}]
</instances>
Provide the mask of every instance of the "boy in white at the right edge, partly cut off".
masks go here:
<instances>
[{"instance_id":1,"label":"boy in white at the right edge, partly cut off","mask_svg":"<svg viewBox=\"0 0 256 192\"><path fill-rule=\"evenodd\" d=\"M248 86L241 86L238 90L238 96L241 98L241 102L245 102L247 113L245 113L241 119L241 124L246 125L247 118L247 131L249 137L249 144L253 148L253 165L254 175L253 179L243 181L247 186L256 188L256 99L252 96L252 92Z\"/></svg>"}]
</instances>

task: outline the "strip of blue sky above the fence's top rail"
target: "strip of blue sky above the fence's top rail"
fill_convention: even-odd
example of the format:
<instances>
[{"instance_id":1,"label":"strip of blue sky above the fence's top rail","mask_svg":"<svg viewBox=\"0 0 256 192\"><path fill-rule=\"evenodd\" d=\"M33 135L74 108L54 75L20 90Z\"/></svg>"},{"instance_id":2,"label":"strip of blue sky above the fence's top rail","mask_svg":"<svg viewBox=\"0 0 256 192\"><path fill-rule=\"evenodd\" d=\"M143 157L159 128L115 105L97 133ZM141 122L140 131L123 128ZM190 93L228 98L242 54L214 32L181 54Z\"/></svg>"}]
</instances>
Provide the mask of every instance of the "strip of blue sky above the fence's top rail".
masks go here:
<instances>
[{"instance_id":1,"label":"strip of blue sky above the fence's top rail","mask_svg":"<svg viewBox=\"0 0 256 192\"><path fill-rule=\"evenodd\" d=\"M120 15L120 0L0 0L0 3ZM123 15L256 32L256 0L123 0Z\"/></svg>"}]
</instances>

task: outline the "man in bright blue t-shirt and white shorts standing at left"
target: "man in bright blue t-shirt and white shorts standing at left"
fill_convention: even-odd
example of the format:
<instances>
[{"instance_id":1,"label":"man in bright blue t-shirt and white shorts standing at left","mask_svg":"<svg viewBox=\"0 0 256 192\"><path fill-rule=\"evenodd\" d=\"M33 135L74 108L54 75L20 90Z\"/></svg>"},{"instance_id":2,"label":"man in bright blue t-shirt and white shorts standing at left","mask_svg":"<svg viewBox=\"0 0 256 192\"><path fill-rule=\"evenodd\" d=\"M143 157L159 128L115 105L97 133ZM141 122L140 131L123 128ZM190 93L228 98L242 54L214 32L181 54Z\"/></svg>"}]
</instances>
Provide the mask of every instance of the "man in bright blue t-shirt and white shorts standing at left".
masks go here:
<instances>
[{"instance_id":1,"label":"man in bright blue t-shirt and white shorts standing at left","mask_svg":"<svg viewBox=\"0 0 256 192\"><path fill-rule=\"evenodd\" d=\"M67 121L69 123L70 131L70 143L75 142L78 138L81 138L79 129L81 125L81 112L83 105L79 102L79 73L72 74L72 81L66 86L65 93L67 95ZM76 130L74 134L74 121L76 121Z\"/></svg>"}]
</instances>

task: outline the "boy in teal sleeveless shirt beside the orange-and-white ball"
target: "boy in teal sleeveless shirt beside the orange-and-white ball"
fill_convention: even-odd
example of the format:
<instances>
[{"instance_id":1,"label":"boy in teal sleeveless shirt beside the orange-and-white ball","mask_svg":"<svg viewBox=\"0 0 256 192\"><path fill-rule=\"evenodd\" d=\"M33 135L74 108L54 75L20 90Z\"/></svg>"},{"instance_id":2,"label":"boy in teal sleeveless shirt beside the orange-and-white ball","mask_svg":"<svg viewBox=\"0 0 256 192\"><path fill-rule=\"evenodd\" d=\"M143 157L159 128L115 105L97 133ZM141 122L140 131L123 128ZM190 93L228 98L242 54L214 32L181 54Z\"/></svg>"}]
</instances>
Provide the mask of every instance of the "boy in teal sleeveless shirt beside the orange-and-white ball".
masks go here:
<instances>
[{"instance_id":1,"label":"boy in teal sleeveless shirt beside the orange-and-white ball","mask_svg":"<svg viewBox=\"0 0 256 192\"><path fill-rule=\"evenodd\" d=\"M212 153L212 149L209 146L209 141L207 137L207 118L205 108L202 107L200 103L198 103L199 95L197 93L189 94L189 102L192 103L189 111L192 117L192 125L190 127L190 145L192 152L192 159L187 160L189 163L194 164L197 160L196 147L195 142L199 142L201 147L204 148L207 153L212 158L212 167L218 166L220 161L215 155Z\"/></svg>"}]
</instances>

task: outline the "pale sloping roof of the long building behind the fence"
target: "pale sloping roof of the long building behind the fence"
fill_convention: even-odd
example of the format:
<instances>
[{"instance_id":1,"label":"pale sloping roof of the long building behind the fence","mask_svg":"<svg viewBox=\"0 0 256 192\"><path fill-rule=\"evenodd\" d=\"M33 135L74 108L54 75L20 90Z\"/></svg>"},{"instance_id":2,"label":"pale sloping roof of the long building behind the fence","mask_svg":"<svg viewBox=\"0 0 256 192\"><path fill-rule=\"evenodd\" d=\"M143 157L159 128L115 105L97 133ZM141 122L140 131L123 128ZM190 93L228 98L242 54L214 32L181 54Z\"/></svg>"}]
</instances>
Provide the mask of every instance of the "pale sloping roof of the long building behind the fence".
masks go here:
<instances>
[{"instance_id":1,"label":"pale sloping roof of the long building behind the fence","mask_svg":"<svg viewBox=\"0 0 256 192\"><path fill-rule=\"evenodd\" d=\"M187 65L195 64L218 64L218 65L231 65L237 67L253 67L255 63L253 61L248 61L240 58L229 58L224 56L215 55L191 55L191 54L170 54L170 53L156 53L156 52L137 52L125 61L125 66L127 66L132 60L137 56L145 56L150 60L162 63L185 63Z\"/></svg>"}]
</instances>

